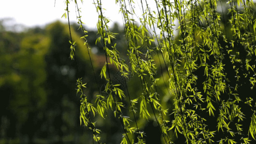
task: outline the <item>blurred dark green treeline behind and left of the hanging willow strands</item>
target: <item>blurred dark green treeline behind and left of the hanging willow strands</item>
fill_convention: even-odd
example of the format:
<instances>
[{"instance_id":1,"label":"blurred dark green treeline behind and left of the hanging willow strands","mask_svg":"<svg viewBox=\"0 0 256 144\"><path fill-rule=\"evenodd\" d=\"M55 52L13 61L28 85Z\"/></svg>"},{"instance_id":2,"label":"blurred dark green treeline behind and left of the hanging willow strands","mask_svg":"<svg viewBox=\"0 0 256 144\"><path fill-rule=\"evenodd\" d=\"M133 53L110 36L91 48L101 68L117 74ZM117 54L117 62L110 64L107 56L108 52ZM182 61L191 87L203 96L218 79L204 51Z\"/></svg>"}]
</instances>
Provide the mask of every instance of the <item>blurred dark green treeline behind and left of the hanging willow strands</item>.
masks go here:
<instances>
[{"instance_id":1,"label":"blurred dark green treeline behind and left of the hanging willow strands","mask_svg":"<svg viewBox=\"0 0 256 144\"><path fill-rule=\"evenodd\" d=\"M99 73L105 56L102 46L95 44L97 32L87 30L96 80L78 25L72 25L77 53L73 61L69 59L68 25L55 22L16 32L3 22L0 21L0 144L92 144L92 133L80 126L80 97L75 89L76 79L83 77L91 103L104 89ZM118 33L115 43L125 57L123 28L114 24L111 31ZM111 72L114 75L117 71L111 67ZM117 83L119 80L116 77ZM128 83L132 97L141 93L137 80L135 76ZM170 96L165 98L165 102L171 102ZM102 142L120 143L122 125L112 111L108 112L108 119L96 117L94 121L103 131ZM159 142L160 134L153 120L138 122L145 127L147 142Z\"/></svg>"}]
</instances>

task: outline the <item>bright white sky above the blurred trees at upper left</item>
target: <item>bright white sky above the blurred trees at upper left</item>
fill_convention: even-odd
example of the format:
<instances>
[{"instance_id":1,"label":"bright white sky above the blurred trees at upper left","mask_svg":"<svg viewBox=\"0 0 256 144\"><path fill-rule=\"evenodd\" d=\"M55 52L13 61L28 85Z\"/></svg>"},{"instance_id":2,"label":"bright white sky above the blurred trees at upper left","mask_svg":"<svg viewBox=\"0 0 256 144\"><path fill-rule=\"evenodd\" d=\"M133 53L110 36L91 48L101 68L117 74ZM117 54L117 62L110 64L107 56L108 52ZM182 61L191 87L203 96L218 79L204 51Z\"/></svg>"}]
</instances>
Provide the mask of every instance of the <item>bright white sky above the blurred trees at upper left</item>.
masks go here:
<instances>
[{"instance_id":1,"label":"bright white sky above the blurred trees at upper left","mask_svg":"<svg viewBox=\"0 0 256 144\"><path fill-rule=\"evenodd\" d=\"M67 19L61 18L65 12L65 0L0 0L0 20L5 21L5 25L15 26L22 24L25 27L44 26L56 20L68 22ZM93 0L77 0L80 10L82 11L82 21L88 28L97 28L98 13L96 12ZM69 11L70 20L76 22L76 11L74 2L70 0ZM122 15L119 12L119 6L115 0L102 0L104 12L112 22L122 23Z\"/></svg>"}]
</instances>

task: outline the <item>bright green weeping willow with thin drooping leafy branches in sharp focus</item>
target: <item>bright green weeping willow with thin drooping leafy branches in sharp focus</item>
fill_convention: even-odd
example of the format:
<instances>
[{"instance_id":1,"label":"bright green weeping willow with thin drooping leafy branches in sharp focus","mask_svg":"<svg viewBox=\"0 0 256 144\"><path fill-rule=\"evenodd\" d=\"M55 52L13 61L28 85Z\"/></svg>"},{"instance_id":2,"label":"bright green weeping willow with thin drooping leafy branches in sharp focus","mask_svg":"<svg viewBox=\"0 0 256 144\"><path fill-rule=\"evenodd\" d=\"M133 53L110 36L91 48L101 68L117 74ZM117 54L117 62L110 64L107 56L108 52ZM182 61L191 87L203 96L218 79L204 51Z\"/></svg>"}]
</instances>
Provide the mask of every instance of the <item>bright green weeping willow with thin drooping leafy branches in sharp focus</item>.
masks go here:
<instances>
[{"instance_id":1,"label":"bright green weeping willow with thin drooping leafy branches in sharp focus","mask_svg":"<svg viewBox=\"0 0 256 144\"><path fill-rule=\"evenodd\" d=\"M68 22L70 2L76 5L77 22L84 33L81 38L90 57L92 46L87 44L78 5L83 0L66 0L63 16ZM157 123L159 144L256 143L253 1L155 0L149 5L148 0L116 0L128 45L127 59L121 57L114 43L117 34L110 31L110 20L104 15L110 8L101 0L92 2L98 12L97 43L103 46L105 64L98 75L91 61L91 71L106 84L103 91L98 86L96 100L89 99L86 82L78 78L77 94L81 125L93 133L93 143L104 143L95 115L107 119L110 111L122 125L121 144L150 143L138 124L142 119ZM70 44L70 58L75 60L72 35ZM118 76L110 74L110 66ZM115 81L116 77L121 81ZM131 96L128 80L135 77L141 88L139 95ZM173 103L166 104L163 95Z\"/></svg>"}]
</instances>

